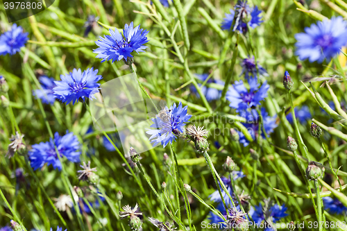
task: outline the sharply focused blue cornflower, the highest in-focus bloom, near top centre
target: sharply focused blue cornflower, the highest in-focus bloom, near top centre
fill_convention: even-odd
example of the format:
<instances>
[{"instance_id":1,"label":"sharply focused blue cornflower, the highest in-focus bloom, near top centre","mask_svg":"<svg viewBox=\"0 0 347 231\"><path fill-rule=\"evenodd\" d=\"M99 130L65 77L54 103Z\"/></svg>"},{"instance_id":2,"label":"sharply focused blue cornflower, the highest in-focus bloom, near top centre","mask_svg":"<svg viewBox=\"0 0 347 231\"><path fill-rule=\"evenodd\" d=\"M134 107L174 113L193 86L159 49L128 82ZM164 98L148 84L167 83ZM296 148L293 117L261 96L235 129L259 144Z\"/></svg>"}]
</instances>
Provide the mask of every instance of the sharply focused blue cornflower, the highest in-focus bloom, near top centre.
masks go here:
<instances>
[{"instance_id":1,"label":"sharply focused blue cornflower, the highest in-focus bloom, near top centre","mask_svg":"<svg viewBox=\"0 0 347 231\"><path fill-rule=\"evenodd\" d=\"M127 60L127 58L133 58L131 55L133 51L144 52L147 48L144 44L149 42L146 37L149 31L140 29L139 26L133 28L133 22L130 26L128 24L124 26L123 35L117 29L109 31L110 35L100 37L101 40L95 42L100 47L94 49L94 53L98 54L96 58L102 58L101 62L112 60L113 63L121 59Z\"/></svg>"}]
</instances>

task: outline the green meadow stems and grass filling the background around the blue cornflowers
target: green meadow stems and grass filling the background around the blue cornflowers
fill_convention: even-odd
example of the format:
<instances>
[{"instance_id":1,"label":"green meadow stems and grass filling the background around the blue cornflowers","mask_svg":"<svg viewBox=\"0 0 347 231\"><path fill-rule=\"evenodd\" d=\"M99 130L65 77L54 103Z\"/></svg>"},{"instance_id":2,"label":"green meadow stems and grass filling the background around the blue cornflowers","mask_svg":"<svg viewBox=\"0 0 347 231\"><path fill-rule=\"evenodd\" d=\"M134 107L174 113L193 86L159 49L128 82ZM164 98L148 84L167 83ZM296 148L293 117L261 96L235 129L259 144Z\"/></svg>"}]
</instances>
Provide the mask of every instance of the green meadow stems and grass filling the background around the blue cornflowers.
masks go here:
<instances>
[{"instance_id":1,"label":"green meadow stems and grass filling the background around the blue cornflowers","mask_svg":"<svg viewBox=\"0 0 347 231\"><path fill-rule=\"evenodd\" d=\"M115 151L105 134L93 128L92 118L83 103L65 105L56 100L53 104L44 104L33 95L33 91L40 87L37 81L40 76L60 80L60 75L68 74L74 68L81 68L82 71L91 67L98 69L98 74L103 76L99 83L130 74L132 71L123 60L101 62L93 53L93 49L98 47L94 41L99 36L109 35L108 28L123 29L124 24L130 22L134 26L140 24L141 28L149 31L146 52L132 53L132 69L136 70L139 82L152 99L167 101L169 108L173 103L178 105L180 102L188 106L188 114L192 114L192 118L187 126L195 124L208 130L208 155L220 176L228 178L229 173L222 165L228 156L232 157L237 164L236 170L245 175L235 180L237 194L244 191L251 197L245 199L246 212L260 203L265 208L264 214L266 207L282 205L287 207L287 215L282 211L276 221L271 218L276 214L265 215L271 220L267 222L305 222L305 228L296 230L318 230L308 226L310 222L317 221L307 182L301 174L301 168L307 168L308 157L325 165L323 181L326 185L311 180L309 188L312 193L316 195L316 184L319 184L322 196L337 196L343 203L336 203L333 208L323 206L320 221L346 222L347 208L344 205L347 198L332 189L338 189L339 184L330 171L320 142L321 139L335 171L339 169L337 174L341 185L344 185L347 176L344 113L346 56L338 53L331 62L324 60L322 63L300 60L295 54L297 41L294 37L324 17L347 17L346 3L341 2L248 1L251 7L257 6L262 10L264 22L254 29L248 28L247 33L221 29L224 14L230 13L236 1L219 0L176 1L175 4L169 1L169 7L161 6L158 0L153 3L139 0L56 0L43 12L16 22L28 33L29 41L14 55L0 55L0 75L8 84L8 92L1 92L8 101L2 98L0 108L0 230L1 227L6 230L11 220L24 225L25 228L19 230L56 230L57 226L62 230L130 230L129 219L120 219L119 211L125 205L135 207L136 203L142 212L139 218L143 230L159 229L149 221L150 217L171 224L176 219L174 227L177 230L203 230L201 223L211 222L211 208L220 205L209 198L217 191L217 185L214 173L210 171L211 163L205 161L209 159L204 158L204 151L196 151L194 142L177 139L172 147L158 146L141 153L141 169L133 166L130 171L129 166L124 165L124 153L120 155ZM85 35L85 22L90 15L98 17L100 24L95 19L90 20L90 24L86 25L90 33ZM3 6L0 6L0 34L8 31L11 25ZM345 51L344 48L342 51ZM266 80L269 84L266 99L256 108L264 108L274 118L277 127L267 139L257 136L251 144L244 146L237 140L237 135L230 134L230 128L244 129L246 133L242 125L245 119L220 96L204 102L192 86L196 82L219 91L224 88L218 83L203 83L196 74L210 74L211 79L224 82L230 80L230 85L237 80L246 83L242 62L253 55L268 74L261 76L258 73L258 80L260 83ZM292 104L283 85L285 71L289 72L294 82L289 93ZM307 80L312 81L319 95L314 94ZM331 91L325 80L330 80ZM322 86L322 83L325 85ZM144 92L142 94L144 99L148 97ZM298 126L289 123L286 117L293 105L297 109L307 106L304 116L296 115ZM316 119L323 128L320 139L310 134L312 119ZM10 137L15 135L16 130L25 135L23 139L27 149L8 158L6 153ZM82 170L80 164L69 162L66 158L62 158L63 171L46 165L35 171L31 168L28 151L33 144L48 142L55 132L62 136L67 134L67 130L78 139L81 164L90 161L91 167L96 167L97 176L94 179L78 180L77 171ZM298 142L298 132L307 151ZM122 153L114 133L107 133ZM288 136L298 142L300 152L296 151L296 155L302 167L298 167L293 152L287 147ZM16 171L19 168L21 170ZM166 183L165 188L162 182ZM183 183L191 189L185 191ZM71 194L74 186L83 191L77 202L79 205L84 203L83 208L76 212L74 208L78 205L67 203L65 211L58 212L57 206L53 205L57 200L55 198ZM69 200L62 203L66 201ZM313 201L317 206L323 205L316 197ZM269 211L271 213L268 208ZM168 227L162 229L169 230ZM347 230L346 227L323 229Z\"/></svg>"}]
</instances>

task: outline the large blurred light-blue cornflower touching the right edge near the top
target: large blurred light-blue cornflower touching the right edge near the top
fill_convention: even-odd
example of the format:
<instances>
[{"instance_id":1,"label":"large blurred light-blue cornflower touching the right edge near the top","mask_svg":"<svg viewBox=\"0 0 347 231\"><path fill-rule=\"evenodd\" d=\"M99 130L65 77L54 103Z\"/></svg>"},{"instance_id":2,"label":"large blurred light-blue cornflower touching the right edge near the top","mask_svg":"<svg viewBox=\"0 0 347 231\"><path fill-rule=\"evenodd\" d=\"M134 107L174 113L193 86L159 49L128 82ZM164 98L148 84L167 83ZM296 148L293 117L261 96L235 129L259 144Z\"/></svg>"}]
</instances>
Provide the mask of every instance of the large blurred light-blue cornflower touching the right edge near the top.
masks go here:
<instances>
[{"instance_id":1,"label":"large blurred light-blue cornflower touching the right edge near the top","mask_svg":"<svg viewBox=\"0 0 347 231\"><path fill-rule=\"evenodd\" d=\"M310 62L330 61L347 43L347 23L342 17L332 17L305 28L305 33L295 35L296 55Z\"/></svg>"}]
</instances>

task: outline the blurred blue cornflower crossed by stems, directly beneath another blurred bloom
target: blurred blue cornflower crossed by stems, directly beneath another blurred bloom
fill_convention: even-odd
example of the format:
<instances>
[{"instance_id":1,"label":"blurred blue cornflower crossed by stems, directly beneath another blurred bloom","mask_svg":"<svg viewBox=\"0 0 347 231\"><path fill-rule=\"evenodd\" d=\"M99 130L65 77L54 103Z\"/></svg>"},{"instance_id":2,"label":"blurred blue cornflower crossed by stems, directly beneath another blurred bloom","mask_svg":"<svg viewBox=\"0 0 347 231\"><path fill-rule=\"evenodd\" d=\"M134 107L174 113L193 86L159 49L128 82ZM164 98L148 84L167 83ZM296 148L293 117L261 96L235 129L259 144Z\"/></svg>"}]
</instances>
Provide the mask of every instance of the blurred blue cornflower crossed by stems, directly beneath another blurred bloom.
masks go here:
<instances>
[{"instance_id":1,"label":"blurred blue cornflower crossed by stems, directly beneath another blurred bloom","mask_svg":"<svg viewBox=\"0 0 347 231\"><path fill-rule=\"evenodd\" d=\"M269 133L273 132L273 129L275 129L278 126L276 124L276 119L275 119L276 116L269 117L265 108L262 108L261 114L262 114L262 122L265 128L266 135L269 136ZM257 134L258 128L259 128L259 121L258 121L259 115L257 113L257 110L252 109L251 112L244 111L241 113L241 116L246 118L246 121L248 122L248 123L242 123L242 124L247 128L248 132L251 134L253 139L255 139L255 135ZM263 130L261 130L261 132L262 132L262 137L265 138L265 135L263 134ZM241 144L244 144L245 147L248 146L249 144L248 139L246 139L246 137L244 136L242 132L238 132L238 133L239 133L239 142Z\"/></svg>"}]
</instances>

